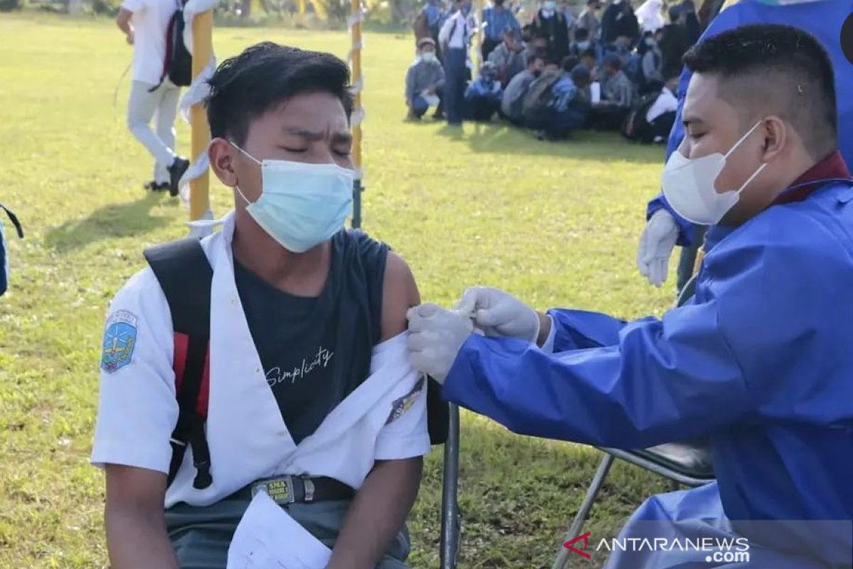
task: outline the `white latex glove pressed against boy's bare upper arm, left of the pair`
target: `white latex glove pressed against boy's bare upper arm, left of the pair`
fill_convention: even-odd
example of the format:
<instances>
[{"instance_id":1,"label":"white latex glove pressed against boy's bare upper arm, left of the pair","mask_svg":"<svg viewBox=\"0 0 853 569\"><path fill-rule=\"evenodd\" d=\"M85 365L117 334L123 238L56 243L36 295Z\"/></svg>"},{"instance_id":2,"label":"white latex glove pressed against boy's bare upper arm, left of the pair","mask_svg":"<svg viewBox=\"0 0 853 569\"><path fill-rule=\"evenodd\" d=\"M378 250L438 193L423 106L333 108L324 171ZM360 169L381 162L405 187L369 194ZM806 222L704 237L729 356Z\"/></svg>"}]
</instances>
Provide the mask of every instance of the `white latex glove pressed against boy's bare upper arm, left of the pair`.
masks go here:
<instances>
[{"instance_id":1,"label":"white latex glove pressed against boy's bare upper arm, left of the pair","mask_svg":"<svg viewBox=\"0 0 853 569\"><path fill-rule=\"evenodd\" d=\"M433 304L410 308L406 316L409 318L412 366L438 383L444 383L456 354L473 332L471 318Z\"/></svg>"}]
</instances>

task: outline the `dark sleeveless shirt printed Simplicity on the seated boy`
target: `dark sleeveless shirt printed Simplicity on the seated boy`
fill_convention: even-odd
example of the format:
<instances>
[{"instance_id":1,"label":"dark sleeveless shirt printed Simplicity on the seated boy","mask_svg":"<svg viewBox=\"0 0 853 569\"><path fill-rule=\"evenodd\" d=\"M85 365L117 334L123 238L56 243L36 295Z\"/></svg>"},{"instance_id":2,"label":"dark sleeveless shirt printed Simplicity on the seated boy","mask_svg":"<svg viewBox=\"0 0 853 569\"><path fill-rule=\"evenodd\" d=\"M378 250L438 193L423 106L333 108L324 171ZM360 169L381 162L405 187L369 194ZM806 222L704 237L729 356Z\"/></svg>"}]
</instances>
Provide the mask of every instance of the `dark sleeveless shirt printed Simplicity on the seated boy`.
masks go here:
<instances>
[{"instance_id":1,"label":"dark sleeveless shirt printed Simplicity on the seated boy","mask_svg":"<svg viewBox=\"0 0 853 569\"><path fill-rule=\"evenodd\" d=\"M339 231L326 284L313 298L285 293L235 259L249 331L296 444L370 374L388 251L361 231Z\"/></svg>"}]
</instances>

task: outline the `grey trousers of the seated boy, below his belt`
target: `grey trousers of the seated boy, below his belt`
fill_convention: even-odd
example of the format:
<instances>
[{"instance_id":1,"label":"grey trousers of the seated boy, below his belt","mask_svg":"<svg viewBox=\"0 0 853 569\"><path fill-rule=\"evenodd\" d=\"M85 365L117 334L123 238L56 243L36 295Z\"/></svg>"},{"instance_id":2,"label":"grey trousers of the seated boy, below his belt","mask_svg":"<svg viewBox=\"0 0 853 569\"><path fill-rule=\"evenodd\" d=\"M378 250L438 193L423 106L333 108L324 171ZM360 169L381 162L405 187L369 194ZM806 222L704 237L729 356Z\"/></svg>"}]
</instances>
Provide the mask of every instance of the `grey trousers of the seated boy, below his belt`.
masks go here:
<instances>
[{"instance_id":1,"label":"grey trousers of the seated boy, below his belt","mask_svg":"<svg viewBox=\"0 0 853 569\"><path fill-rule=\"evenodd\" d=\"M289 504L282 506L293 520L329 549L344 525L348 500ZM228 547L237 524L249 502L228 497L210 506L194 507L181 503L165 511L166 529L181 569L225 569ZM409 556L409 531L397 533L376 569L409 569L403 561Z\"/></svg>"}]
</instances>

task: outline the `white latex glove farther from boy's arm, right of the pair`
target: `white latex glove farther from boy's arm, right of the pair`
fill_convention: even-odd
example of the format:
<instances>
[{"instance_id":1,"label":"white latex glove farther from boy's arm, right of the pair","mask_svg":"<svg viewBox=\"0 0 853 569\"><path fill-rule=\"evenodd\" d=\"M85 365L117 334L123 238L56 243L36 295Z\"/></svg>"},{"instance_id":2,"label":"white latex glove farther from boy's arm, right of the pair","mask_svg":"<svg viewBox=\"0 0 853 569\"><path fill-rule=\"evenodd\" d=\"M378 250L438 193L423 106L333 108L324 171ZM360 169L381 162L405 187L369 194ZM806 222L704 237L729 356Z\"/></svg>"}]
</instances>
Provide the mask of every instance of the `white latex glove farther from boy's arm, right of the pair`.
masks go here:
<instances>
[{"instance_id":1,"label":"white latex glove farther from boy's arm, right of the pair","mask_svg":"<svg viewBox=\"0 0 853 569\"><path fill-rule=\"evenodd\" d=\"M497 288L468 288L456 304L456 310L470 315L474 326L487 336L518 338L532 344L539 337L537 312Z\"/></svg>"}]
</instances>

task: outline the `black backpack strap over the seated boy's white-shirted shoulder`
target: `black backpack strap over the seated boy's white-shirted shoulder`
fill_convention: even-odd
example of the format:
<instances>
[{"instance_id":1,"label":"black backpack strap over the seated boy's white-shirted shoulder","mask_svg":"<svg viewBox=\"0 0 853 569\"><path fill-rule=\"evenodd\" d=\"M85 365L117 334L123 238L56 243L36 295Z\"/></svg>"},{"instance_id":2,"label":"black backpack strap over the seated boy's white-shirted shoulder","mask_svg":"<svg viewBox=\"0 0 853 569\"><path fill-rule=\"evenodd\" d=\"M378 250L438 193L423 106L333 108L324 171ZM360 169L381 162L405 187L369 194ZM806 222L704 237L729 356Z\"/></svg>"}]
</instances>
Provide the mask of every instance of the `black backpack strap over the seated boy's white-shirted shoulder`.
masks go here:
<instances>
[{"instance_id":1,"label":"black backpack strap over the seated boy's white-shirted shoulder","mask_svg":"<svg viewBox=\"0 0 853 569\"><path fill-rule=\"evenodd\" d=\"M194 238L151 247L144 254L169 303L172 328L176 334L189 337L187 359L177 392L177 426L171 434L167 485L175 479L189 444L196 469L193 486L201 490L212 483L205 420L196 405L210 340L213 270L200 242Z\"/></svg>"}]
</instances>

